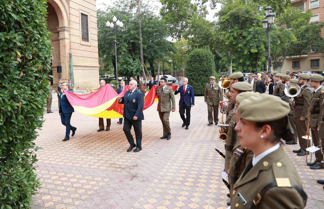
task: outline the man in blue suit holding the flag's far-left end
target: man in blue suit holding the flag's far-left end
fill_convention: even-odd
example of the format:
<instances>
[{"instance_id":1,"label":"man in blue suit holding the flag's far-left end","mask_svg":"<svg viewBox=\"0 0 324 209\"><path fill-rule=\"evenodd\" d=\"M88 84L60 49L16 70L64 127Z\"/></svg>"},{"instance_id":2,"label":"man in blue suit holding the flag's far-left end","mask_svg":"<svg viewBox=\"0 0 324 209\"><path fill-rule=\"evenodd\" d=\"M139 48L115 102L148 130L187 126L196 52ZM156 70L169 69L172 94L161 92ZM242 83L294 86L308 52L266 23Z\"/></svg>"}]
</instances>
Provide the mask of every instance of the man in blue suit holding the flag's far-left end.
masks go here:
<instances>
[{"instance_id":1,"label":"man in blue suit holding the flag's far-left end","mask_svg":"<svg viewBox=\"0 0 324 209\"><path fill-rule=\"evenodd\" d=\"M72 130L72 137L75 135L76 127L73 127L70 124L70 120L71 120L72 113L74 112L74 108L70 104L69 100L67 100L63 89L65 91L69 91L69 92L72 92L72 91L69 90L69 83L68 82L64 82L62 84L62 87L63 88L61 89L61 93L60 93L59 115L61 116L62 124L66 127L66 129L65 129L65 138L62 141L67 141L67 140L70 139L70 131L71 130Z\"/></svg>"}]
</instances>

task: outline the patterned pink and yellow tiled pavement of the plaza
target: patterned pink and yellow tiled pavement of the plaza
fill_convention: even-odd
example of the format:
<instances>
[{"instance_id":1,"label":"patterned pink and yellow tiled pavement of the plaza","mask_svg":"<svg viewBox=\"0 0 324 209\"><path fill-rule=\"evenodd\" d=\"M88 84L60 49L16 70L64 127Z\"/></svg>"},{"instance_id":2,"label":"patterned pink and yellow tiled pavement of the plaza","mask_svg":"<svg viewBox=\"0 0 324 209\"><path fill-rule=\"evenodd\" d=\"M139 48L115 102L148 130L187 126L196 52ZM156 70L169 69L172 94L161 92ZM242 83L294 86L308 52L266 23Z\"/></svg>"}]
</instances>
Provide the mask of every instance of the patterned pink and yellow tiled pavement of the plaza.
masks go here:
<instances>
[{"instance_id":1,"label":"patterned pink and yellow tiled pavement of the plaza","mask_svg":"<svg viewBox=\"0 0 324 209\"><path fill-rule=\"evenodd\" d=\"M98 118L75 112L71 124L76 134L62 142L65 127L58 110L45 113L36 140L43 148L37 153L36 171L42 188L32 208L227 208L228 191L221 179L224 159L214 149L225 153L224 144L218 128L206 126L203 97L195 99L189 130L181 127L178 105L170 113L171 140L160 139L156 104L145 110L143 150L138 153L126 152L129 144L118 119L111 120L110 131L97 132ZM320 208L324 192L316 180L324 179L323 170L307 168L305 157L291 152L298 145L284 148L302 179L307 208Z\"/></svg>"}]
</instances>

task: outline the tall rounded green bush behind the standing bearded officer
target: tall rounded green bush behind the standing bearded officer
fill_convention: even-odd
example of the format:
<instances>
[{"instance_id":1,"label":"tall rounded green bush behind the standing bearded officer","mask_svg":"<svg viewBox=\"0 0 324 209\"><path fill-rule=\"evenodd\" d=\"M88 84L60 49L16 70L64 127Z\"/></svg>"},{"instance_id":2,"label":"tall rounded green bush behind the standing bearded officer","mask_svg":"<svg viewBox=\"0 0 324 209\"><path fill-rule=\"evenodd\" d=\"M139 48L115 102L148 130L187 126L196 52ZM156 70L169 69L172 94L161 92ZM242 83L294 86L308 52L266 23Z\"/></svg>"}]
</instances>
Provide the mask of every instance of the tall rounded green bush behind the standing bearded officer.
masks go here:
<instances>
[{"instance_id":1,"label":"tall rounded green bush behind the standing bearded officer","mask_svg":"<svg viewBox=\"0 0 324 209\"><path fill-rule=\"evenodd\" d=\"M204 94L205 86L212 75L215 75L213 53L206 48L193 49L187 58L186 77L195 95Z\"/></svg>"}]
</instances>

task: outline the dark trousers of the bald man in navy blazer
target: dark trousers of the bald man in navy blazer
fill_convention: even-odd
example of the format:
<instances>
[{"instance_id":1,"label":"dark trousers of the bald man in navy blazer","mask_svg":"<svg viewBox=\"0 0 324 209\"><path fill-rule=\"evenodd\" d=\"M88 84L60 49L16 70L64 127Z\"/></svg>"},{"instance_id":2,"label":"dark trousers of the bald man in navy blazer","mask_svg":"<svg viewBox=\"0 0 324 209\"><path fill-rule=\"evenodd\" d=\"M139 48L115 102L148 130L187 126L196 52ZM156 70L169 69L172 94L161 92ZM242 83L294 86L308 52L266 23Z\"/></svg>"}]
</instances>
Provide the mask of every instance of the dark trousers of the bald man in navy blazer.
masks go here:
<instances>
[{"instance_id":1,"label":"dark trousers of the bald man in navy blazer","mask_svg":"<svg viewBox=\"0 0 324 209\"><path fill-rule=\"evenodd\" d=\"M129 120L127 118L124 119L123 131L125 136L132 146L134 145L134 138L131 133L132 126L134 127L135 137L136 137L136 148L142 148L142 121L141 120Z\"/></svg>"}]
</instances>

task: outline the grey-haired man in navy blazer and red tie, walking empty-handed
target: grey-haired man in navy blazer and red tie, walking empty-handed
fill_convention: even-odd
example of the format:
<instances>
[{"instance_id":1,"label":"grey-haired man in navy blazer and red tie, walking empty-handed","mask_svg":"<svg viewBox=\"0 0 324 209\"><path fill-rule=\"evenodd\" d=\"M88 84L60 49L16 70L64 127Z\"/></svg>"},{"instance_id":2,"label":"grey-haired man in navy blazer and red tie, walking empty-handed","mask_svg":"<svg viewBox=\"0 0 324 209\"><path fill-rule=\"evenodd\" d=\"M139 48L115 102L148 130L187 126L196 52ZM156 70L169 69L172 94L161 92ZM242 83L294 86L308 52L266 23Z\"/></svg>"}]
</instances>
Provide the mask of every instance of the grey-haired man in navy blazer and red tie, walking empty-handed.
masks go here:
<instances>
[{"instance_id":1,"label":"grey-haired man in navy blazer and red tie, walking empty-handed","mask_svg":"<svg viewBox=\"0 0 324 209\"><path fill-rule=\"evenodd\" d=\"M195 96L193 94L193 88L191 85L188 85L188 78L182 79L182 86L177 87L177 90L174 94L180 93L180 100L179 100L179 113L180 117L183 121L182 127L186 126L185 129L189 129L188 126L190 125L190 110L193 105L195 105ZM186 110L186 117L184 116Z\"/></svg>"}]
</instances>

